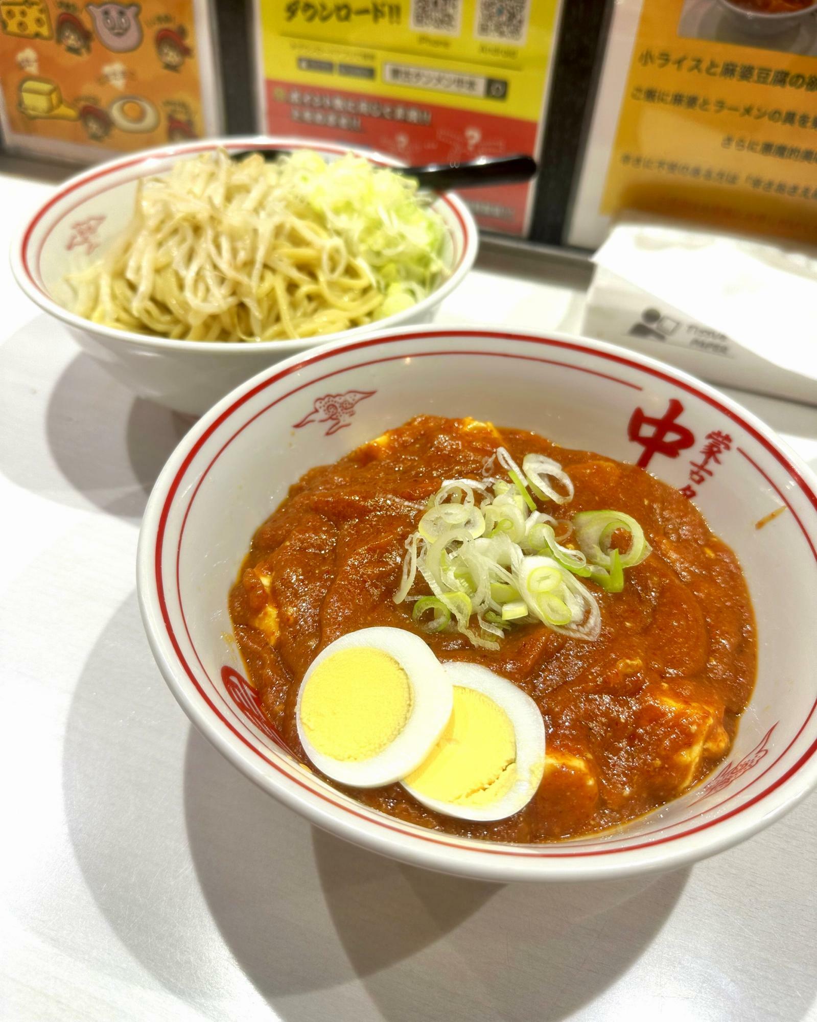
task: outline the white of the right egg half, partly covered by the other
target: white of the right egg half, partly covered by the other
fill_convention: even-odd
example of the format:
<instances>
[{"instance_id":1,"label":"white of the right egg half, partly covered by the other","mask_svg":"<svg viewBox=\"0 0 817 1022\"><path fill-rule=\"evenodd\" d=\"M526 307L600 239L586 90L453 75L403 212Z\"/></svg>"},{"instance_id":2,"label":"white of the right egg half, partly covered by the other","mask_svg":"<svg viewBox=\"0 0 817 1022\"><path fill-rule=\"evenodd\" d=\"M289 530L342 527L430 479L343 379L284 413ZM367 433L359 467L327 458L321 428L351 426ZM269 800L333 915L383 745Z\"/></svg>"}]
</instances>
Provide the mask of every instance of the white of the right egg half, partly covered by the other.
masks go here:
<instances>
[{"instance_id":1,"label":"white of the right egg half, partly covered by the other","mask_svg":"<svg viewBox=\"0 0 817 1022\"><path fill-rule=\"evenodd\" d=\"M536 794L544 772L544 721L536 703L507 678L476 663L443 664L453 685L473 689L492 699L508 714L517 743L517 779L510 791L489 805L460 805L429 798L402 782L418 802L436 812L461 820L504 820L519 812Z\"/></svg>"}]
</instances>

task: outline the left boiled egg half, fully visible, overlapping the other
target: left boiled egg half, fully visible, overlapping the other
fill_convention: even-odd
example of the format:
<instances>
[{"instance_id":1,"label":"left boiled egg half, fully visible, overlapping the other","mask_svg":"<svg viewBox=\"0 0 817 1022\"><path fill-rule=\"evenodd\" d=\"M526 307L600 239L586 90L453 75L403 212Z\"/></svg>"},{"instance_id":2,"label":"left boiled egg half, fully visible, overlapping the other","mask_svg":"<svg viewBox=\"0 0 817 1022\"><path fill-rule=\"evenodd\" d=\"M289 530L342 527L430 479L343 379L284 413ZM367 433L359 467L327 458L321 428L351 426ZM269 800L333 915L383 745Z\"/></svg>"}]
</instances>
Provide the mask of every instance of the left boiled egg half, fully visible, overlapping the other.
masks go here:
<instances>
[{"instance_id":1,"label":"left boiled egg half, fully visible, overlapping the other","mask_svg":"<svg viewBox=\"0 0 817 1022\"><path fill-rule=\"evenodd\" d=\"M423 640L402 629L373 628L319 653L295 713L318 770L341 784L377 788L426 759L452 707L451 678Z\"/></svg>"}]
</instances>

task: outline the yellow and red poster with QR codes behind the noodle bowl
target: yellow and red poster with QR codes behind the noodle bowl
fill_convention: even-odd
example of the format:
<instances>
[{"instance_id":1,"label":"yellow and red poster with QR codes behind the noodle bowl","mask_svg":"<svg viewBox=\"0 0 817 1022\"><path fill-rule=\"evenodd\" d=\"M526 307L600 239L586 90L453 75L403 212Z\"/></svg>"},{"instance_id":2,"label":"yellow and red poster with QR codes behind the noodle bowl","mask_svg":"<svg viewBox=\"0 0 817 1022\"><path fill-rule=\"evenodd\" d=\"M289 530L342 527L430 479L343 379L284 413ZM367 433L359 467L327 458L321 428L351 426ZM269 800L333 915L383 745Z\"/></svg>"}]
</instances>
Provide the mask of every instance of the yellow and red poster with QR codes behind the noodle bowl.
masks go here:
<instances>
[{"instance_id":1,"label":"yellow and red poster with QR codes behind the noodle bowl","mask_svg":"<svg viewBox=\"0 0 817 1022\"><path fill-rule=\"evenodd\" d=\"M256 0L261 130L407 164L538 152L560 0ZM527 234L533 186L469 189Z\"/></svg>"}]
</instances>

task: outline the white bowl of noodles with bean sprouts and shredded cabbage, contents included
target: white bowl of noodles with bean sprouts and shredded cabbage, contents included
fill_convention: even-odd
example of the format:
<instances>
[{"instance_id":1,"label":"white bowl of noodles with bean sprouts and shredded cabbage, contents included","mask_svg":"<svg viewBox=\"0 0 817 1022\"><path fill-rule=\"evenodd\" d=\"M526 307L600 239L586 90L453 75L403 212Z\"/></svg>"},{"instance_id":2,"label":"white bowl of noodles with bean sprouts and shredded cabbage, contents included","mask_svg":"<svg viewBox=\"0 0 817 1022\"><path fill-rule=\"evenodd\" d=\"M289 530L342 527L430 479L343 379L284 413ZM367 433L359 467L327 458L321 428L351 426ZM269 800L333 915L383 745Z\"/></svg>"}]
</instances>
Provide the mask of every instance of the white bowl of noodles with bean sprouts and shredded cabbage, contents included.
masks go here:
<instances>
[{"instance_id":1,"label":"white bowl of noodles with bean sprouts and shredded cabbage, contents included","mask_svg":"<svg viewBox=\"0 0 817 1022\"><path fill-rule=\"evenodd\" d=\"M200 415L282 359L434 317L477 228L456 195L398 170L285 137L148 150L65 182L12 270L116 379Z\"/></svg>"}]
</instances>

